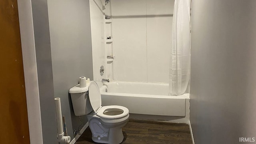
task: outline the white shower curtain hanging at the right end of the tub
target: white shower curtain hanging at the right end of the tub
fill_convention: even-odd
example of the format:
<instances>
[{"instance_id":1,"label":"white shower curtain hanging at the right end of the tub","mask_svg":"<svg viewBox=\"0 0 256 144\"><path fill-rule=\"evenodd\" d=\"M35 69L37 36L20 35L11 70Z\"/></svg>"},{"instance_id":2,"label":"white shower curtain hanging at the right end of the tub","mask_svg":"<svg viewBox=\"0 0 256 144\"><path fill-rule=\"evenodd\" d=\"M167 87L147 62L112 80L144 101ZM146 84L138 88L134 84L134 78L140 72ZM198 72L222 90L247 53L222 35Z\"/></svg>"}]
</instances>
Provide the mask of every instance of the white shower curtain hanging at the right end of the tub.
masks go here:
<instances>
[{"instance_id":1,"label":"white shower curtain hanging at the right end of the tub","mask_svg":"<svg viewBox=\"0 0 256 144\"><path fill-rule=\"evenodd\" d=\"M184 94L190 80L190 0L175 0L172 20L172 50L169 94Z\"/></svg>"}]
</instances>

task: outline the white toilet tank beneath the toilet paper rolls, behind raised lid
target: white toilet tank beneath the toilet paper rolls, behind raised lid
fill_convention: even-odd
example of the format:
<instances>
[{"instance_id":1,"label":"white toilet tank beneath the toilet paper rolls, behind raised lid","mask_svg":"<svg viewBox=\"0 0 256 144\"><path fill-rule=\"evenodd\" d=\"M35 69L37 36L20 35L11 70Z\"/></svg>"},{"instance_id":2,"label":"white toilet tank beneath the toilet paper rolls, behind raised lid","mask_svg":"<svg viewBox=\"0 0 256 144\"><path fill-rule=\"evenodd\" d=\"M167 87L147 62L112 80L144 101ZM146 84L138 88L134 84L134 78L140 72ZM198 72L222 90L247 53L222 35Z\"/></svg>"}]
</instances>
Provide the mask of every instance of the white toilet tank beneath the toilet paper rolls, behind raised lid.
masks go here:
<instances>
[{"instance_id":1,"label":"white toilet tank beneath the toilet paper rolls, behind raised lid","mask_svg":"<svg viewBox=\"0 0 256 144\"><path fill-rule=\"evenodd\" d=\"M76 116L82 116L92 112L88 96L88 86L80 88L79 84L69 90L74 113Z\"/></svg>"}]
</instances>

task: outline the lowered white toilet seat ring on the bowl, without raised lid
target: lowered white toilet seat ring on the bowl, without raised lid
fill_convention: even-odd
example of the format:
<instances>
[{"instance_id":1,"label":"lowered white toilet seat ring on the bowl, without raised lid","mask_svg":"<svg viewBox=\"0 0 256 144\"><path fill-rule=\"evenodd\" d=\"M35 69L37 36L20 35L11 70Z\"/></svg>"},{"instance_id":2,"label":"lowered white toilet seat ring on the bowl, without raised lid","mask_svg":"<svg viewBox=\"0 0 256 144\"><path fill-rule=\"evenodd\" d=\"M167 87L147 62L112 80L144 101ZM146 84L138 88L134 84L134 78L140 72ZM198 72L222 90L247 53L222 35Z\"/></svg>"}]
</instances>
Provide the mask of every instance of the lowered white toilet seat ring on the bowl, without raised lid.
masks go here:
<instances>
[{"instance_id":1,"label":"lowered white toilet seat ring on the bowl, without raised lid","mask_svg":"<svg viewBox=\"0 0 256 144\"><path fill-rule=\"evenodd\" d=\"M121 114L112 114L112 115L107 115L106 112L112 112L112 111L119 111L122 112ZM97 112L97 116L101 118L122 118L129 114L128 108L124 106L103 106L100 108Z\"/></svg>"}]
</instances>

